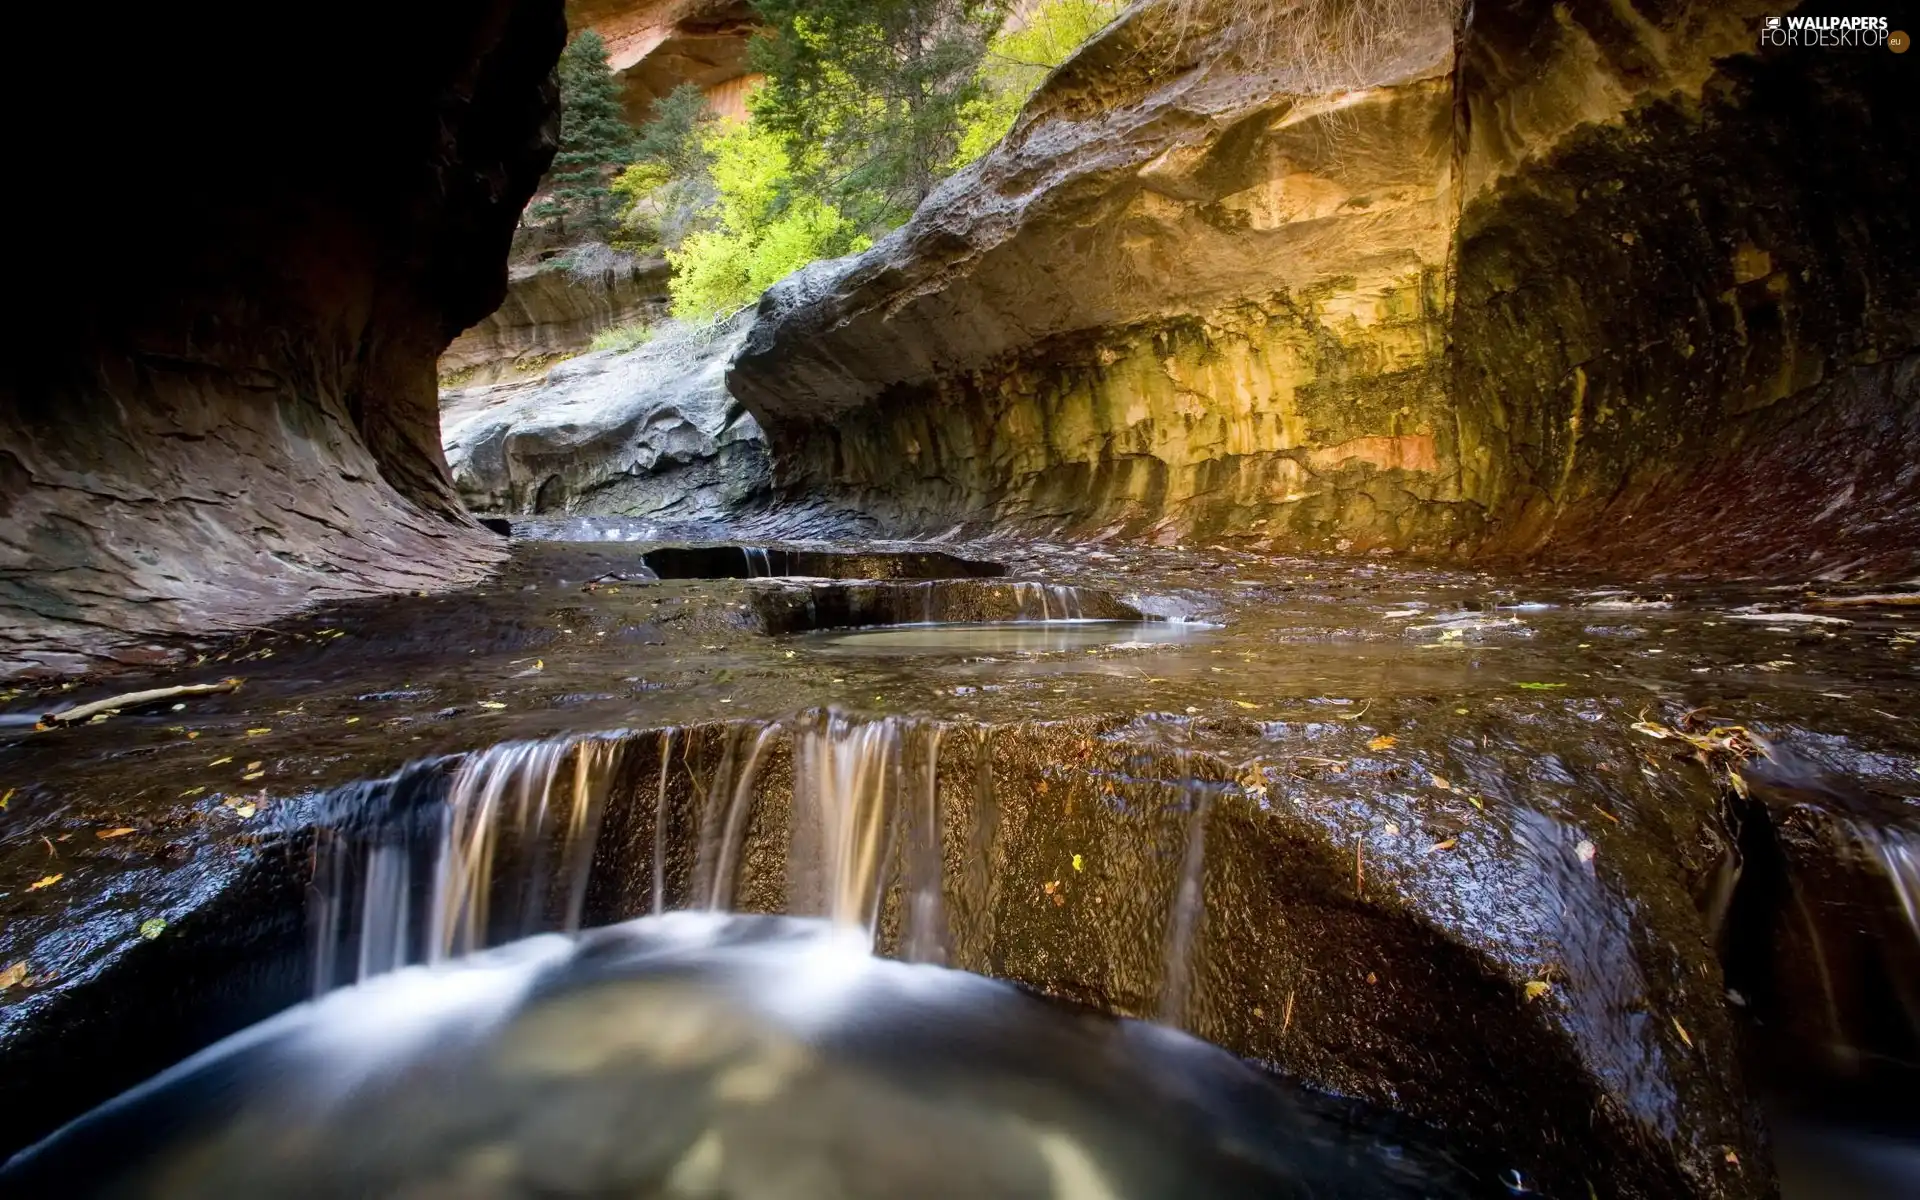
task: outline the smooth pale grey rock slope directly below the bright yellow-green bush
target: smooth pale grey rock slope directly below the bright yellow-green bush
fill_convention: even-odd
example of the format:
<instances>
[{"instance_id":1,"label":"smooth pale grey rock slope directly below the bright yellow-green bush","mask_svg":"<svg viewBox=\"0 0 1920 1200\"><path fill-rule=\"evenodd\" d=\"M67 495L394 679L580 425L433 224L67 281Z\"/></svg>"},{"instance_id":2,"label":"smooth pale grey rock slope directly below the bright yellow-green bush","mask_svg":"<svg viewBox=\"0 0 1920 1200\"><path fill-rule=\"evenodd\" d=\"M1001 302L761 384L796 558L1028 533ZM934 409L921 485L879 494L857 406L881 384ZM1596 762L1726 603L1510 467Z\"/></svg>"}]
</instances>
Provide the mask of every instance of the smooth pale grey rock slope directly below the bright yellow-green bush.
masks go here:
<instances>
[{"instance_id":1,"label":"smooth pale grey rock slope directly below the bright yellow-green bush","mask_svg":"<svg viewBox=\"0 0 1920 1200\"><path fill-rule=\"evenodd\" d=\"M753 315L664 326L628 353L589 353L538 382L447 392L447 463L482 513L705 520L764 499L766 440L726 390Z\"/></svg>"}]
</instances>

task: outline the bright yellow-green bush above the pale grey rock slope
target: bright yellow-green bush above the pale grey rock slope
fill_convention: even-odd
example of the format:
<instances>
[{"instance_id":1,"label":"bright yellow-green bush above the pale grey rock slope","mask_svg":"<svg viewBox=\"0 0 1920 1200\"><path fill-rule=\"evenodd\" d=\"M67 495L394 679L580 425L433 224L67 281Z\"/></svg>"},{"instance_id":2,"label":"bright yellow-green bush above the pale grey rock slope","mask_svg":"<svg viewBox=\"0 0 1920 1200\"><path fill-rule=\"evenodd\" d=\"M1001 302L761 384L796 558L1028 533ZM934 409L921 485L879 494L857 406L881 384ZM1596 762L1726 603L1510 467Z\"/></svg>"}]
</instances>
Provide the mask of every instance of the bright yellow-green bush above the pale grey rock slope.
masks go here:
<instances>
[{"instance_id":1,"label":"bright yellow-green bush above the pale grey rock slope","mask_svg":"<svg viewBox=\"0 0 1920 1200\"><path fill-rule=\"evenodd\" d=\"M705 152L720 225L666 252L674 317L712 321L814 259L872 244L831 204L793 188L780 138L758 123L722 123Z\"/></svg>"}]
</instances>

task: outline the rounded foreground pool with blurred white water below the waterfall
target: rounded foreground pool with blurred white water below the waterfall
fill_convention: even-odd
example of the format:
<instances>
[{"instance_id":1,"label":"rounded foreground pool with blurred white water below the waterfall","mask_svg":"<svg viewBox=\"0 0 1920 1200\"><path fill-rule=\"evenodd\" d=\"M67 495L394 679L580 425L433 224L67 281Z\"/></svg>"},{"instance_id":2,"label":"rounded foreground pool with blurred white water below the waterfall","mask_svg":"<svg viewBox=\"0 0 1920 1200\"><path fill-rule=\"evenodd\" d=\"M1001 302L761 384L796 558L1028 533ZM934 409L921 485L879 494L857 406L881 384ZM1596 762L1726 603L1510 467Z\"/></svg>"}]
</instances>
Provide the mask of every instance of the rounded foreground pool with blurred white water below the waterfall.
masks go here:
<instances>
[{"instance_id":1,"label":"rounded foreground pool with blurred white water below the waterfall","mask_svg":"<svg viewBox=\"0 0 1920 1200\"><path fill-rule=\"evenodd\" d=\"M1490 1175L1490 1171L1488 1171ZM29 1150L21 1194L1494 1194L1200 1041L674 914L334 993Z\"/></svg>"}]
</instances>

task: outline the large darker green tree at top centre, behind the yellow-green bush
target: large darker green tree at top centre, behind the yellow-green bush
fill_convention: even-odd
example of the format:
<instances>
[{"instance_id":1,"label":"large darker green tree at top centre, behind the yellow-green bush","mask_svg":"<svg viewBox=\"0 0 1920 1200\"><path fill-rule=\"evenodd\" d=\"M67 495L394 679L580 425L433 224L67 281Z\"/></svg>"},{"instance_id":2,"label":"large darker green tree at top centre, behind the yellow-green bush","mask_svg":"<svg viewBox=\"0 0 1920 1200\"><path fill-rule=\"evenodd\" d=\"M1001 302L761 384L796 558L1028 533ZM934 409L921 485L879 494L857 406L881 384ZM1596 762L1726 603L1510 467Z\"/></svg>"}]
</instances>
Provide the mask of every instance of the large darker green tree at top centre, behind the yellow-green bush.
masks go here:
<instances>
[{"instance_id":1,"label":"large darker green tree at top centre, behind the yellow-green bush","mask_svg":"<svg viewBox=\"0 0 1920 1200\"><path fill-rule=\"evenodd\" d=\"M962 109L1010 0L755 0L755 119L801 184L868 230L904 221L952 169Z\"/></svg>"}]
</instances>

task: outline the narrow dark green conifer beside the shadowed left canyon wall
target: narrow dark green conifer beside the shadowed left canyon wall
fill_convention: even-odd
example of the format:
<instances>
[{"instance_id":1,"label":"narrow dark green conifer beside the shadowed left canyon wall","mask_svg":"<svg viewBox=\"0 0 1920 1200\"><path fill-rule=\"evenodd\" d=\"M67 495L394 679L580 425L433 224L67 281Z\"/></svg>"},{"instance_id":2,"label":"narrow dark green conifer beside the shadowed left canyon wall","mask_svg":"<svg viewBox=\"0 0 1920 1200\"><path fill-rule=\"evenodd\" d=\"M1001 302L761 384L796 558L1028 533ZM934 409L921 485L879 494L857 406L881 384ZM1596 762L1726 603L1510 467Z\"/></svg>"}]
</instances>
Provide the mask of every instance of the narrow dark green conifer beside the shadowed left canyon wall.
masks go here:
<instances>
[{"instance_id":1,"label":"narrow dark green conifer beside the shadowed left canyon wall","mask_svg":"<svg viewBox=\"0 0 1920 1200\"><path fill-rule=\"evenodd\" d=\"M609 182L634 161L634 127L607 65L607 42L591 29L576 35L561 52L559 75L561 150L547 175L553 190L530 215L559 232L605 238L618 211Z\"/></svg>"}]
</instances>

